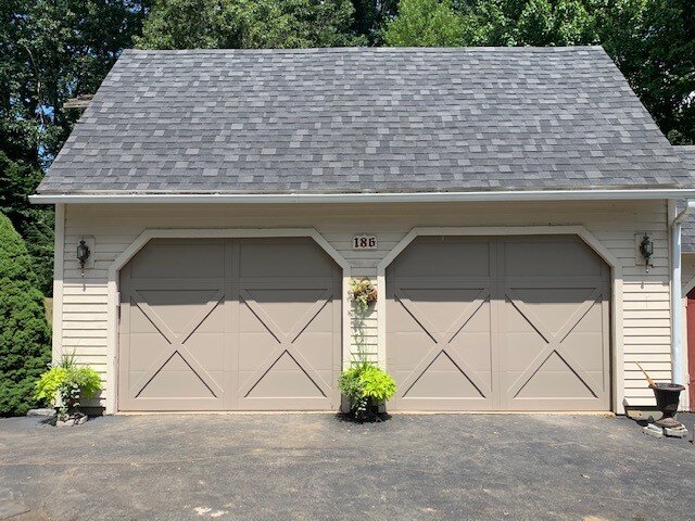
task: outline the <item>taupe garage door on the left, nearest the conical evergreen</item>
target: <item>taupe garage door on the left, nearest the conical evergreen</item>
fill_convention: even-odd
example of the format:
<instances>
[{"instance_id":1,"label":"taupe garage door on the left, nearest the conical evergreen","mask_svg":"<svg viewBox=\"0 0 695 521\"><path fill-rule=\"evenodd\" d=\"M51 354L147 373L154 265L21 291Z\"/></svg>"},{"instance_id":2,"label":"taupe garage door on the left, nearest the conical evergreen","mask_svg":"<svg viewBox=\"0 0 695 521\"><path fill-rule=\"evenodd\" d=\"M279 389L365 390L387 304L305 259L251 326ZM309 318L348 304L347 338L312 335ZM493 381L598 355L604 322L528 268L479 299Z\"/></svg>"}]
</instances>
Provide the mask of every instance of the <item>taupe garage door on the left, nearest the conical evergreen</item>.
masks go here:
<instances>
[{"instance_id":1,"label":"taupe garage door on the left, nearest the conical evergreen","mask_svg":"<svg viewBox=\"0 0 695 521\"><path fill-rule=\"evenodd\" d=\"M341 275L314 241L154 240L119 291L121 410L338 407Z\"/></svg>"}]
</instances>

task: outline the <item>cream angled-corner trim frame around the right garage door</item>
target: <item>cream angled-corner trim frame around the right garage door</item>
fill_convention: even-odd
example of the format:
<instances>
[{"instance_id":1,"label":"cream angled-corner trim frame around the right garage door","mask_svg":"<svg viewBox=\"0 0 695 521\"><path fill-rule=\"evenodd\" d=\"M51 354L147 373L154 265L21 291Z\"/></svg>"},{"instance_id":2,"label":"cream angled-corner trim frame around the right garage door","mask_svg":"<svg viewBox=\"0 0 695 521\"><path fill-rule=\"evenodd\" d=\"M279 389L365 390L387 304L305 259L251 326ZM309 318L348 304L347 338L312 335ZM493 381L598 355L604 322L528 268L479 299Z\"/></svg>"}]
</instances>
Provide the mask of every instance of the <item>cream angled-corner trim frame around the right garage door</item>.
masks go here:
<instances>
[{"instance_id":1,"label":"cream angled-corner trim frame around the right garage door","mask_svg":"<svg viewBox=\"0 0 695 521\"><path fill-rule=\"evenodd\" d=\"M624 368L622 342L622 266L618 258L583 226L509 226L509 227L416 227L413 228L377 266L377 334L380 364L387 359L387 268L420 236L498 237L498 236L577 236L610 268L610 363L612 410L624 414Z\"/></svg>"}]
</instances>

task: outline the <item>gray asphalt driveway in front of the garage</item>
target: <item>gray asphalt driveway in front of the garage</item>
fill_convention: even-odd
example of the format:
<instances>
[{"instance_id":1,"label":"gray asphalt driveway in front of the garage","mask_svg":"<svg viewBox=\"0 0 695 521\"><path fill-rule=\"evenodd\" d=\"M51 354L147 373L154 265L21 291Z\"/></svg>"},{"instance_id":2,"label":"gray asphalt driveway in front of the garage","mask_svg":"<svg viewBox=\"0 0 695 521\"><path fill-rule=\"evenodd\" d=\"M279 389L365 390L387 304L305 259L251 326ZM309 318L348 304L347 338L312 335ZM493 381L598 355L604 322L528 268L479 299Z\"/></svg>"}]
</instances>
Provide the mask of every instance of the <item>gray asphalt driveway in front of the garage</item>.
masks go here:
<instances>
[{"instance_id":1,"label":"gray asphalt driveway in front of the garage","mask_svg":"<svg viewBox=\"0 0 695 521\"><path fill-rule=\"evenodd\" d=\"M0 420L0 504L31 509L17 520L692 519L693 491L695 446L627 418Z\"/></svg>"}]
</instances>

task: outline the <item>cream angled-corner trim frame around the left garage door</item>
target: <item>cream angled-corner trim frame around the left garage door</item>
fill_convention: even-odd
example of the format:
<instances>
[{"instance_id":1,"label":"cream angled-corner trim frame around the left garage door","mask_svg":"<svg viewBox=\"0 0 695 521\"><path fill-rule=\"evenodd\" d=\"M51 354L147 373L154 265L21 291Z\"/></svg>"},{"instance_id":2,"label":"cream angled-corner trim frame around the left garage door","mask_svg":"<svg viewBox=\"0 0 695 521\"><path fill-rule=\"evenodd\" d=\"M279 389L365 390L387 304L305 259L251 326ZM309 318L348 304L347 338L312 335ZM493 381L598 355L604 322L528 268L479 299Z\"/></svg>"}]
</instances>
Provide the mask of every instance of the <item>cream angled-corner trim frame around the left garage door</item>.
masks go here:
<instances>
[{"instance_id":1,"label":"cream angled-corner trim frame around the left garage door","mask_svg":"<svg viewBox=\"0 0 695 521\"><path fill-rule=\"evenodd\" d=\"M350 306L345 305L350 289L351 267L343 257L315 228L148 228L121 254L109 267L108 325L106 325L106 387L105 412L118 411L118 302L121 300L118 281L121 269L152 239L268 239L268 238L309 238L330 256L342 270L342 356L343 365L350 356Z\"/></svg>"}]
</instances>

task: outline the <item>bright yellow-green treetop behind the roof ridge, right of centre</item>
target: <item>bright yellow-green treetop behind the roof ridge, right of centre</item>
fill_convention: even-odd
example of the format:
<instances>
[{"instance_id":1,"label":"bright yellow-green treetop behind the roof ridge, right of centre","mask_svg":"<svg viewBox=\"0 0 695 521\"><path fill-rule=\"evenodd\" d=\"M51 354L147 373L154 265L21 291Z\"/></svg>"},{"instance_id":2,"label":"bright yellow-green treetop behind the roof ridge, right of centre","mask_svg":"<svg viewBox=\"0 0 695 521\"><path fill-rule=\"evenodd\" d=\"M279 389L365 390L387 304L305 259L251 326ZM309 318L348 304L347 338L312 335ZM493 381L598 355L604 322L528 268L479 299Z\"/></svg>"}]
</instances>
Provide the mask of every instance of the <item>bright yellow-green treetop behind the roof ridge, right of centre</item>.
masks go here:
<instances>
[{"instance_id":1,"label":"bright yellow-green treetop behind the roof ridge, right of centre","mask_svg":"<svg viewBox=\"0 0 695 521\"><path fill-rule=\"evenodd\" d=\"M401 0L383 34L393 47L457 47L463 37L464 17L451 0Z\"/></svg>"}]
</instances>

